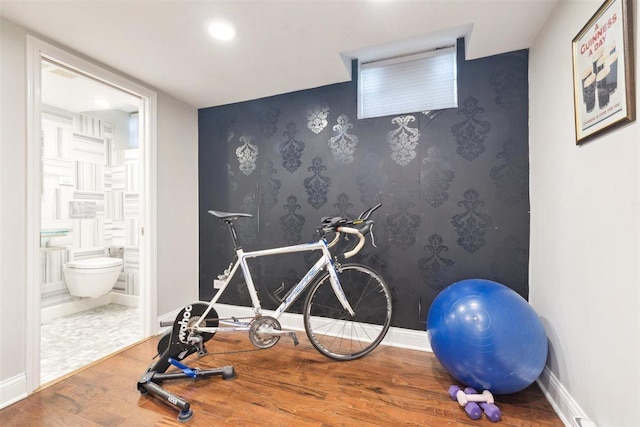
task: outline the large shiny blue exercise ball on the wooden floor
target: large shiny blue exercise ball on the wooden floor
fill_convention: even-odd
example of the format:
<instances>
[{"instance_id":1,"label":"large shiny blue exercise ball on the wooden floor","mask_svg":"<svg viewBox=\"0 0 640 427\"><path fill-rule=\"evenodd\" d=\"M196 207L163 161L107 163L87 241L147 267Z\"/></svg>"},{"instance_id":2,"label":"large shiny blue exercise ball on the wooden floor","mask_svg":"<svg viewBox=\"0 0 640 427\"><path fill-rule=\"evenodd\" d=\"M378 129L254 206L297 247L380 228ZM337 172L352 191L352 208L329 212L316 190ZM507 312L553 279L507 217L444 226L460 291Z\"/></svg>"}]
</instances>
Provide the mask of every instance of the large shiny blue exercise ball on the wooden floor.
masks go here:
<instances>
[{"instance_id":1,"label":"large shiny blue exercise ball on the wooden floor","mask_svg":"<svg viewBox=\"0 0 640 427\"><path fill-rule=\"evenodd\" d=\"M452 377L494 394L525 389L547 360L547 336L536 312L518 293L490 280L462 280L440 292L427 332Z\"/></svg>"}]
</instances>

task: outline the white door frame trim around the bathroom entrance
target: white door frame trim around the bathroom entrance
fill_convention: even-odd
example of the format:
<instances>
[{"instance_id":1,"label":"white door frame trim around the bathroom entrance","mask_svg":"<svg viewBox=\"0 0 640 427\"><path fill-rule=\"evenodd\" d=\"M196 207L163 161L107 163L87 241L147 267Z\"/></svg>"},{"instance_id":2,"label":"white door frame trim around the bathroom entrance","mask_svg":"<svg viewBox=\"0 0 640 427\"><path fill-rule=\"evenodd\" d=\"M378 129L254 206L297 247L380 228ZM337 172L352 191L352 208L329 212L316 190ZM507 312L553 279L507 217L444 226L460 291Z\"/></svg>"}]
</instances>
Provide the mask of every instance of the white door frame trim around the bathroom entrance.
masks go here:
<instances>
[{"instance_id":1,"label":"white door frame trim around the bathroom entrance","mask_svg":"<svg viewBox=\"0 0 640 427\"><path fill-rule=\"evenodd\" d=\"M41 60L46 58L79 74L141 99L140 176L140 321L143 337L158 331L157 304L157 94L113 71L27 35L27 393L40 387L40 230L42 195Z\"/></svg>"}]
</instances>

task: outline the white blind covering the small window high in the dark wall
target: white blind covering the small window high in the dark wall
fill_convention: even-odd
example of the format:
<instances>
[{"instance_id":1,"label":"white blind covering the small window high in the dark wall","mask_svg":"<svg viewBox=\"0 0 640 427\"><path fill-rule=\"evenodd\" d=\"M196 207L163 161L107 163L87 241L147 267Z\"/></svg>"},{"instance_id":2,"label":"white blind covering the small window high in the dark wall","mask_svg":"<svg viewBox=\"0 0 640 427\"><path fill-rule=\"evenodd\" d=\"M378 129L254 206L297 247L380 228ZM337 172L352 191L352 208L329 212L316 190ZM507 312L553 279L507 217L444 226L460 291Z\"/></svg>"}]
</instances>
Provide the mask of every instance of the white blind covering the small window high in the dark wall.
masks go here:
<instances>
[{"instance_id":1,"label":"white blind covering the small window high in the dark wall","mask_svg":"<svg viewBox=\"0 0 640 427\"><path fill-rule=\"evenodd\" d=\"M455 47L360 64L360 119L457 106Z\"/></svg>"}]
</instances>

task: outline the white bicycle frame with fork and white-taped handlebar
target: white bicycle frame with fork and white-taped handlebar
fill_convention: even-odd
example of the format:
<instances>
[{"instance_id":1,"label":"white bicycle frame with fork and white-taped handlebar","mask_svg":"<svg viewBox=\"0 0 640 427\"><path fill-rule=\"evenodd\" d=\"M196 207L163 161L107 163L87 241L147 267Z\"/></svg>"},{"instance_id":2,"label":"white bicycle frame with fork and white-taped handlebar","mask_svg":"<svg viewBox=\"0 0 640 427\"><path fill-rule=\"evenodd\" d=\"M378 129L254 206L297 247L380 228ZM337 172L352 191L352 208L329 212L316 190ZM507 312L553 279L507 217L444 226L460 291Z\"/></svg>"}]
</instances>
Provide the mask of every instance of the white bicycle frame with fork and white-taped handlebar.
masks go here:
<instances>
[{"instance_id":1,"label":"white bicycle frame with fork and white-taped handlebar","mask_svg":"<svg viewBox=\"0 0 640 427\"><path fill-rule=\"evenodd\" d=\"M233 267L231 267L231 270L229 270L229 273L226 274L226 277L224 278L220 289L218 289L218 292L216 292L216 294L213 296L213 298L209 302L209 306L207 307L205 312L200 316L200 319L198 319L198 321L196 321L189 329L193 330L194 332L204 332L204 333L249 330L249 327L250 327L249 323L229 322L229 321L224 321L222 319L220 320L220 323L231 323L236 326L208 327L208 326L200 326L200 324L206 320L207 315L213 309L213 305L218 302L218 300L224 293L225 289L227 289L227 286L229 286L229 283L231 283L231 279L234 277L235 273L237 272L238 267L240 267L240 269L242 270L242 275L244 277L245 284L247 286L249 295L251 297L251 304L253 306L253 311L255 313L255 316L261 315L262 307L260 305L260 299L258 298L258 292L256 291L256 287L253 283L253 278L251 277L251 272L249 271L249 265L247 264L248 259L259 258L264 256L270 256L270 255L282 255L282 254L317 251L317 250L322 251L322 256L309 269L307 274L305 274L304 277L300 279L300 281L291 289L291 291L289 291L286 298L282 301L280 306L275 310L275 314L273 317L278 319L282 315L282 313L284 313L289 307L291 307L291 305L295 302L298 296L300 296L300 294L309 286L311 281L325 268L329 272L329 280L331 282L331 287L333 288L333 292L336 294L336 297L338 298L338 300L340 301L344 309L347 310L352 316L354 316L355 312L353 311L353 308L349 304L349 301L347 300L344 290L340 285L340 280L338 279L338 274L336 272L333 259L331 258L331 253L329 252L329 248L334 246L338 242L340 238L340 233L353 234L358 236L358 238L360 239L360 241L355 246L355 248L353 248L349 252L345 252L344 254L345 258L349 258L355 255L364 246L365 237L358 230L350 227L338 227L336 229L336 237L333 239L333 241L330 244L327 244L327 241L324 238L321 238L317 242L305 243L305 244L293 245L293 246L283 246L283 247L273 248L273 249L262 249L257 251L248 251L248 252L243 251L242 248L236 249L237 259L233 264ZM241 324L242 326L237 326L238 324Z\"/></svg>"}]
</instances>

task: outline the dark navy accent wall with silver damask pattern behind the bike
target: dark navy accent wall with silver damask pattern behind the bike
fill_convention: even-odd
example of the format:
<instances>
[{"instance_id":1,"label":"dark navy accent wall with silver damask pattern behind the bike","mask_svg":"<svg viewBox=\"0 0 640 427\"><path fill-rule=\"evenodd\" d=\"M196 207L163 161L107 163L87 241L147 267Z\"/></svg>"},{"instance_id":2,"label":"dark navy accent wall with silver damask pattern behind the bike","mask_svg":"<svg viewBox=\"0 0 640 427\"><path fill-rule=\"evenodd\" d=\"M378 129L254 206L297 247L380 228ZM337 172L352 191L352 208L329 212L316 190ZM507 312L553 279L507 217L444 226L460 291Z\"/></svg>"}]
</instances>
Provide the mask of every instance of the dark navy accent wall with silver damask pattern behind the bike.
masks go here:
<instances>
[{"instance_id":1,"label":"dark navy accent wall with silver damask pattern behind the bike","mask_svg":"<svg viewBox=\"0 0 640 427\"><path fill-rule=\"evenodd\" d=\"M459 53L458 108L376 119L356 117L355 72L348 83L201 109L200 298L233 258L224 223L207 210L253 214L238 221L252 250L309 242L321 217L356 217L378 202L377 248L357 261L389 283L393 326L424 329L435 296L466 278L527 298L527 74L526 50ZM274 294L316 257L251 261L263 307L275 308ZM231 287L222 302L250 300Z\"/></svg>"}]
</instances>

